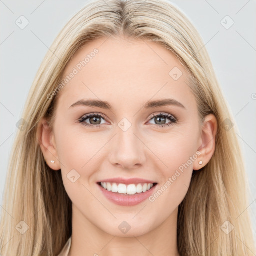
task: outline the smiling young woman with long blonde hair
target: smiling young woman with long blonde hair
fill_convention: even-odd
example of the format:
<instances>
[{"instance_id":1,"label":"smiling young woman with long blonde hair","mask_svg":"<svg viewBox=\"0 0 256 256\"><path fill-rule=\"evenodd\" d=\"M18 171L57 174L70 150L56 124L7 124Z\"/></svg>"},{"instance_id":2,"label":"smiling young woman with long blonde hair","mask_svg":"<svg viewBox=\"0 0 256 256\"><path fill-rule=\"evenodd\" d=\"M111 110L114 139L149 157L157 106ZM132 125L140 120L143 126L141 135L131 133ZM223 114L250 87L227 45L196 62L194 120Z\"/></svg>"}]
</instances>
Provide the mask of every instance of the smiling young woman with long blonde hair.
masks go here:
<instances>
[{"instance_id":1,"label":"smiling young woman with long blonde hair","mask_svg":"<svg viewBox=\"0 0 256 256\"><path fill-rule=\"evenodd\" d=\"M2 255L256 253L234 119L201 37L168 1L89 2L22 118Z\"/></svg>"}]
</instances>

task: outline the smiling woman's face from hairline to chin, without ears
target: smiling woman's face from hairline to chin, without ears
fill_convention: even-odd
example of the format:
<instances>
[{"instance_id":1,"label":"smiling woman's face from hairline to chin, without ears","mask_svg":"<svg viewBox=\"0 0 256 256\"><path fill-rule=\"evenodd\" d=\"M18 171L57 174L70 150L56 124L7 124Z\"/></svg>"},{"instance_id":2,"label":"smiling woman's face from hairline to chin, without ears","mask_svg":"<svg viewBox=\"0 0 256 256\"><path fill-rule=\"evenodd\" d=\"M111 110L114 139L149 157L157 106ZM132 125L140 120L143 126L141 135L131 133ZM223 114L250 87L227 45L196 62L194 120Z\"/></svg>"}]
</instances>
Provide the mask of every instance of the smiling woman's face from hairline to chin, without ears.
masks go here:
<instances>
[{"instance_id":1,"label":"smiling woman's face from hairline to chin, without ears","mask_svg":"<svg viewBox=\"0 0 256 256\"><path fill-rule=\"evenodd\" d=\"M117 236L175 224L202 156L196 153L202 138L195 97L175 55L155 42L97 39L77 51L63 79L66 75L58 92L52 154L73 216ZM82 103L88 100L95 103ZM125 183L118 178L134 180L118 185ZM106 179L117 179L110 180L116 186L105 186L120 193L98 184ZM143 183L157 184L140 192L138 183L144 189Z\"/></svg>"}]
</instances>

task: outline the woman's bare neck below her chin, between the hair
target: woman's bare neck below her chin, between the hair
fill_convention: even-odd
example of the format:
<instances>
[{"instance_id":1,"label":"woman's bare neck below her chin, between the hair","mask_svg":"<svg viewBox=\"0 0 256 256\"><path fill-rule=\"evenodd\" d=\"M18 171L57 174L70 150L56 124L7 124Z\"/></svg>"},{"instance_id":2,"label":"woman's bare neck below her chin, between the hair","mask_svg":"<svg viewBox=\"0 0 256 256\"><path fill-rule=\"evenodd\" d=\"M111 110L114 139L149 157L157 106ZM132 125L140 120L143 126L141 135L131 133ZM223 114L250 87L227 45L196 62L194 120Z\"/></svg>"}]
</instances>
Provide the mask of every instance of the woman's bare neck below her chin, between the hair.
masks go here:
<instances>
[{"instance_id":1,"label":"woman's bare neck below her chin, between the hair","mask_svg":"<svg viewBox=\"0 0 256 256\"><path fill-rule=\"evenodd\" d=\"M68 256L179 256L177 250L177 211L155 229L127 232L125 237L110 235L89 221L72 206L72 238ZM119 221L120 222L120 221ZM131 230L131 229L130 229ZM138 232L139 230L137 230ZM130 233L128 236L127 234Z\"/></svg>"}]
</instances>

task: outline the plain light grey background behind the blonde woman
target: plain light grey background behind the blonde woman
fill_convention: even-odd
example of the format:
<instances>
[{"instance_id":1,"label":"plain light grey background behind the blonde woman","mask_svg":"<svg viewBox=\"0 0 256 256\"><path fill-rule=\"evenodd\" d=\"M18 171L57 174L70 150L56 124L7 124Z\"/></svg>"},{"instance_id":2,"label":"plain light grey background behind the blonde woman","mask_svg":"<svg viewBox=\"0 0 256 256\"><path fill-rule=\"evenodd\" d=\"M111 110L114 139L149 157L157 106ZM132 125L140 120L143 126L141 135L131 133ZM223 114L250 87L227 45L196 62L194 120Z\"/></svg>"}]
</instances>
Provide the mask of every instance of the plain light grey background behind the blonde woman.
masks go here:
<instances>
[{"instance_id":1,"label":"plain light grey background behind the blonde woman","mask_svg":"<svg viewBox=\"0 0 256 256\"><path fill-rule=\"evenodd\" d=\"M241 132L256 233L256 2L255 0L173 0L200 32L224 95ZM54 38L86 0L0 0L0 205L16 123ZM20 29L23 15L29 24ZM232 20L226 17L228 15ZM223 19L224 18L224 19ZM222 21L221 21L222 20ZM22 24L24 25L23 19ZM222 24L221 24L222 23ZM21 24L20 24L21 25ZM245 209L244 209L245 210Z\"/></svg>"}]
</instances>

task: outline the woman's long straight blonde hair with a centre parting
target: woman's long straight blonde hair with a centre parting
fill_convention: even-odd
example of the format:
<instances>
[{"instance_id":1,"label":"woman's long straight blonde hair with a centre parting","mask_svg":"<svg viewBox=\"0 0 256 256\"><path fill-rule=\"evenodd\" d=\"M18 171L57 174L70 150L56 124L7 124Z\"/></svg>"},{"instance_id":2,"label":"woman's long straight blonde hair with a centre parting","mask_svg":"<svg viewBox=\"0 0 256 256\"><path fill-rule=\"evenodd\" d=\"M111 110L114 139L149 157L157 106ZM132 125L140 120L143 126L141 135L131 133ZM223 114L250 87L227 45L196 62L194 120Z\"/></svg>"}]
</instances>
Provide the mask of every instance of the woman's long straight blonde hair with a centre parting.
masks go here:
<instances>
[{"instance_id":1,"label":"woman's long straight blonde hair with a centre parting","mask_svg":"<svg viewBox=\"0 0 256 256\"><path fill-rule=\"evenodd\" d=\"M235 120L202 38L167 0L90 0L54 40L31 86L23 126L11 151L1 211L0 253L57 255L71 235L71 200L60 171L51 170L44 160L38 122L47 117L52 123L56 96L47 95L59 85L77 49L93 39L119 35L155 41L172 51L190 73L189 86L201 119L213 113L218 121L215 152L202 171L192 176L179 205L180 255L255 255L248 182ZM226 122L234 126L226 128ZM233 230L227 233L226 228Z\"/></svg>"}]
</instances>

